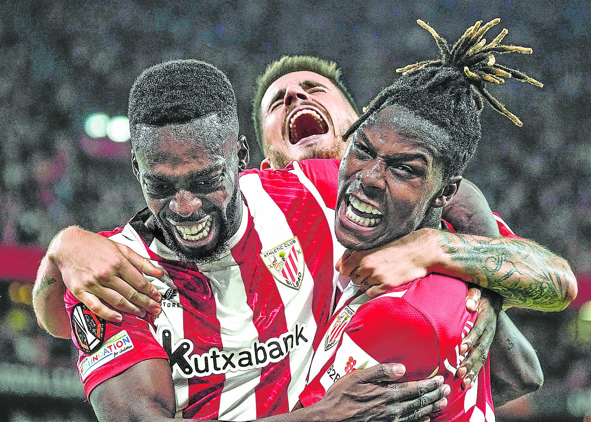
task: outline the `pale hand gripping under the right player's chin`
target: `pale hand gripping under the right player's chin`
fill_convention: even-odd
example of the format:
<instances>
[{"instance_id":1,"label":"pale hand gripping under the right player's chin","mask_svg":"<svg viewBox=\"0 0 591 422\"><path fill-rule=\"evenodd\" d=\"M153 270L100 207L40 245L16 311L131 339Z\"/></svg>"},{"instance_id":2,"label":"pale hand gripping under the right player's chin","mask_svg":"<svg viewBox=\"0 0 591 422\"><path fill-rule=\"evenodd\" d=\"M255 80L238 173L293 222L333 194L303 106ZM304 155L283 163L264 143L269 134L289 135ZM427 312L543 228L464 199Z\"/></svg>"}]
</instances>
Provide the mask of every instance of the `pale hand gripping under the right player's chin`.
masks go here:
<instances>
[{"instance_id":1,"label":"pale hand gripping under the right player's chin","mask_svg":"<svg viewBox=\"0 0 591 422\"><path fill-rule=\"evenodd\" d=\"M368 251L349 251L336 264L370 298L426 277L437 264L439 243L435 229L420 229Z\"/></svg>"}]
</instances>

